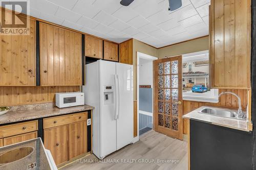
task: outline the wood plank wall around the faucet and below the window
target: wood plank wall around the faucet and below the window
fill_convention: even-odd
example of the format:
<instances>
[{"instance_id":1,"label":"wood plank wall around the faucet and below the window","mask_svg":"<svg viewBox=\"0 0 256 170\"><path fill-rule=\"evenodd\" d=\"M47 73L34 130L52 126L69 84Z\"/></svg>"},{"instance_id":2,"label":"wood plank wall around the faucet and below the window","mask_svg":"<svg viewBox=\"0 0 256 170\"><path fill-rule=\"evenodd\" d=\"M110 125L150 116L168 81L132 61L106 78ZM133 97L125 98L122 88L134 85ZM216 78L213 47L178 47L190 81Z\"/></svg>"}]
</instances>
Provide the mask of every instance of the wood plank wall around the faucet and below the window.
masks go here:
<instances>
[{"instance_id":1,"label":"wood plank wall around the faucet and below the window","mask_svg":"<svg viewBox=\"0 0 256 170\"><path fill-rule=\"evenodd\" d=\"M238 94L241 98L242 109L246 109L248 104L248 90L245 89L220 89L221 92L230 91ZM201 106L216 106L238 109L238 100L236 96L232 94L223 94L220 97L219 103L207 103L207 102L194 102L183 101L183 115L187 114ZM188 120L183 119L183 134L187 134Z\"/></svg>"}]
</instances>

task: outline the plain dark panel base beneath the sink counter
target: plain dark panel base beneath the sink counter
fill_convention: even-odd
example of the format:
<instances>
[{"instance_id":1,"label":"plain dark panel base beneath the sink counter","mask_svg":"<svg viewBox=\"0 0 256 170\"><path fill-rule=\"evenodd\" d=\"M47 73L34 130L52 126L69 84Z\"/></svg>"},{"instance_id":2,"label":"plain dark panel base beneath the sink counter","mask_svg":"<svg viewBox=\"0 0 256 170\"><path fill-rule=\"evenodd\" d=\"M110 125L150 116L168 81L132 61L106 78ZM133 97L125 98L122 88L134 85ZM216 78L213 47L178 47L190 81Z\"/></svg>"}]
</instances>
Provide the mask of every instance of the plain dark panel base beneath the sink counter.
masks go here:
<instances>
[{"instance_id":1,"label":"plain dark panel base beneath the sink counter","mask_svg":"<svg viewBox=\"0 0 256 170\"><path fill-rule=\"evenodd\" d=\"M252 133L190 120L191 170L251 170Z\"/></svg>"}]
</instances>

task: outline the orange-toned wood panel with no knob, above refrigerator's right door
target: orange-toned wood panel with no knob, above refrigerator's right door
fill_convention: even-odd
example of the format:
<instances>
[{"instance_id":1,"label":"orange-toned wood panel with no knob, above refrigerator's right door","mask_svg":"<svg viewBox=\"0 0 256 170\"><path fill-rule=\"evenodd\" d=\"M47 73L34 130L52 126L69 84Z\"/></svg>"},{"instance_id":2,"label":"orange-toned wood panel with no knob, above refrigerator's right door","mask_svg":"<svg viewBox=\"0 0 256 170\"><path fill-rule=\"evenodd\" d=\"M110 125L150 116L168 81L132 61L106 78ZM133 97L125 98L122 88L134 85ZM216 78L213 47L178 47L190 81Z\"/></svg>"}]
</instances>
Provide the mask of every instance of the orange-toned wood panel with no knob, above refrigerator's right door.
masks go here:
<instances>
[{"instance_id":1,"label":"orange-toned wood panel with no knob, above refrigerator's right door","mask_svg":"<svg viewBox=\"0 0 256 170\"><path fill-rule=\"evenodd\" d=\"M133 64L133 39L119 44L119 62Z\"/></svg>"}]
</instances>

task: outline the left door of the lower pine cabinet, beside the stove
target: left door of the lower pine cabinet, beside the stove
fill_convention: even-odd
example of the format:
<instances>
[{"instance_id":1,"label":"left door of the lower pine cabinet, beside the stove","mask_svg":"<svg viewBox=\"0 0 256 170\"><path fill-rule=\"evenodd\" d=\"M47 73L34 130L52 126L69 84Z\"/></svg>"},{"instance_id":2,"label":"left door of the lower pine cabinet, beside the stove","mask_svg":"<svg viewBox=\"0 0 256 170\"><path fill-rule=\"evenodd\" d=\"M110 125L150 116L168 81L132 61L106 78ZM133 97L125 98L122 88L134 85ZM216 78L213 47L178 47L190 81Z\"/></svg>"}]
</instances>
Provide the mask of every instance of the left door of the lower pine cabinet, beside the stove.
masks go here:
<instances>
[{"instance_id":1,"label":"left door of the lower pine cabinet, beside the stove","mask_svg":"<svg viewBox=\"0 0 256 170\"><path fill-rule=\"evenodd\" d=\"M68 161L68 126L44 130L44 145L56 164Z\"/></svg>"}]
</instances>

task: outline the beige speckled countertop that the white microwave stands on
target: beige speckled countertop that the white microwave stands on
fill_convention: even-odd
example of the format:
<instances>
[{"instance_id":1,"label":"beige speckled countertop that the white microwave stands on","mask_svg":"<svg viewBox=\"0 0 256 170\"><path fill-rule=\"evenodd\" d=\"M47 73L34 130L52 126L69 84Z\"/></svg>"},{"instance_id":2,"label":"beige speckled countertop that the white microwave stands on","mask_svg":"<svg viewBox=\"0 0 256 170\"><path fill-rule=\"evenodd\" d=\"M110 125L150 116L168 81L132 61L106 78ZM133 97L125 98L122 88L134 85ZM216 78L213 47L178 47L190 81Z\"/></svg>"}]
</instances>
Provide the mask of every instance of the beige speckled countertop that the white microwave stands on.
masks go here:
<instances>
[{"instance_id":1,"label":"beige speckled countertop that the white microwave stands on","mask_svg":"<svg viewBox=\"0 0 256 170\"><path fill-rule=\"evenodd\" d=\"M93 106L82 105L68 108L58 108L54 104L35 104L11 107L10 111L0 115L0 125L42 117L56 116L68 113L81 112L94 109Z\"/></svg>"}]
</instances>

